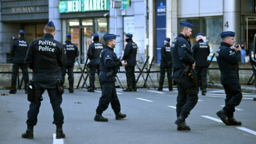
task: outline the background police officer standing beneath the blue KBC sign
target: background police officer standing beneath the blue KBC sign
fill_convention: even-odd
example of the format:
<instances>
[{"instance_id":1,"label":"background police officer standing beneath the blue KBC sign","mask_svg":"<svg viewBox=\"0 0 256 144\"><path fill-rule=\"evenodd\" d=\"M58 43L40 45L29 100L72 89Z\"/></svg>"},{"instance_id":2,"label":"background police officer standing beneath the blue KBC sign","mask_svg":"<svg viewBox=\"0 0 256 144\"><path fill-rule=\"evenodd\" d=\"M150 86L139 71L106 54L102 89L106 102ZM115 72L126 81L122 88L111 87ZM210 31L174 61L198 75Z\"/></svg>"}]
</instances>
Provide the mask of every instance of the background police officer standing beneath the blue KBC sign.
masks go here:
<instances>
[{"instance_id":1,"label":"background police officer standing beneath the blue KBC sign","mask_svg":"<svg viewBox=\"0 0 256 144\"><path fill-rule=\"evenodd\" d=\"M170 38L164 39L164 46L161 48L160 80L158 91L163 91L164 75L167 72L169 91L172 91L172 54Z\"/></svg>"}]
</instances>

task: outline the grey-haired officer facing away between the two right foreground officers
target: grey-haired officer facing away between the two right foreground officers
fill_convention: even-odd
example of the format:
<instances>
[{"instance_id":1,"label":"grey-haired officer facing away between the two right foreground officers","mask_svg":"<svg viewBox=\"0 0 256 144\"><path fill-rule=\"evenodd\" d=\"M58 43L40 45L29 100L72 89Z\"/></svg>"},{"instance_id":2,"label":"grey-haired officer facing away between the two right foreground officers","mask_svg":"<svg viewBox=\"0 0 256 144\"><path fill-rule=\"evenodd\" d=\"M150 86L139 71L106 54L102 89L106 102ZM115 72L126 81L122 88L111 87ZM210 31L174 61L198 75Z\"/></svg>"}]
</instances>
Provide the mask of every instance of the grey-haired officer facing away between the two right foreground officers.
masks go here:
<instances>
[{"instance_id":1,"label":"grey-haired officer facing away between the two right foreground officers","mask_svg":"<svg viewBox=\"0 0 256 144\"><path fill-rule=\"evenodd\" d=\"M203 40L204 33L196 34L196 44L193 45L192 51L196 61L195 71L201 85L202 95L206 94L206 76L208 61L207 56L210 54L210 47Z\"/></svg>"}]
</instances>

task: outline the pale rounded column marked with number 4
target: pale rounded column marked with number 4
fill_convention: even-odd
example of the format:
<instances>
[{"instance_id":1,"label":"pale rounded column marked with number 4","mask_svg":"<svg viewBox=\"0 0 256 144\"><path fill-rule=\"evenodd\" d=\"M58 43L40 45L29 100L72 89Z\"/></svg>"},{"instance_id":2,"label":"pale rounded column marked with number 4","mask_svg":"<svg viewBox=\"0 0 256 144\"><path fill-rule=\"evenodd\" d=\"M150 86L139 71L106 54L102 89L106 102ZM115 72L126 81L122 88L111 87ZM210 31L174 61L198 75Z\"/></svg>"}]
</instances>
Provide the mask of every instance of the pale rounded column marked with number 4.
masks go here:
<instances>
[{"instance_id":1,"label":"pale rounded column marked with number 4","mask_svg":"<svg viewBox=\"0 0 256 144\"><path fill-rule=\"evenodd\" d=\"M241 41L240 3L240 0L223 1L223 31L234 31L236 44Z\"/></svg>"}]
</instances>

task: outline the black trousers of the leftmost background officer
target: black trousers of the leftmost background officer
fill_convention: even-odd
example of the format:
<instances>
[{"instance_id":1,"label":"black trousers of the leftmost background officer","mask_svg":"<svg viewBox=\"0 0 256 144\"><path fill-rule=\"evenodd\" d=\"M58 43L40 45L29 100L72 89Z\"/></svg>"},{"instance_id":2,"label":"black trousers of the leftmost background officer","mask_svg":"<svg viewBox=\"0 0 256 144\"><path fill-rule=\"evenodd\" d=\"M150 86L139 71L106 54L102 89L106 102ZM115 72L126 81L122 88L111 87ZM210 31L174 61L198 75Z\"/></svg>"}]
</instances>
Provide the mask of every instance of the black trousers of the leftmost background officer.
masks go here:
<instances>
[{"instance_id":1,"label":"black trousers of the leftmost background officer","mask_svg":"<svg viewBox=\"0 0 256 144\"><path fill-rule=\"evenodd\" d=\"M12 65L12 89L16 90L17 75L19 73L19 68L22 70L22 76L24 79L25 88L28 86L28 67L22 63L13 63Z\"/></svg>"}]
</instances>

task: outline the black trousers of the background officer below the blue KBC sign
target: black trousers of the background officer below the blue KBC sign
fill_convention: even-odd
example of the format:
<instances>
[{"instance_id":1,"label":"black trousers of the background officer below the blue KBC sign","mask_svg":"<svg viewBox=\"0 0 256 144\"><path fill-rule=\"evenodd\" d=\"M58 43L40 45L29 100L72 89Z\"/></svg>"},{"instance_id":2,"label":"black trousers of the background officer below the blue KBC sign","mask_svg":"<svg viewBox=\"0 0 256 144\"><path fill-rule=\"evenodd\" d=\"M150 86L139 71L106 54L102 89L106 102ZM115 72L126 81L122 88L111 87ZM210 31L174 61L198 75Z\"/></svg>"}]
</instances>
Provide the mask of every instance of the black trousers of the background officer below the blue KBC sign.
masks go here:
<instances>
[{"instance_id":1,"label":"black trousers of the background officer below the blue KBC sign","mask_svg":"<svg viewBox=\"0 0 256 144\"><path fill-rule=\"evenodd\" d=\"M168 86L172 88L172 67L160 67L159 88L163 88L165 72L167 72Z\"/></svg>"}]
</instances>

